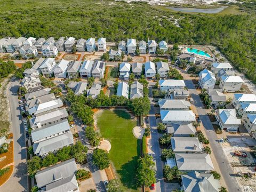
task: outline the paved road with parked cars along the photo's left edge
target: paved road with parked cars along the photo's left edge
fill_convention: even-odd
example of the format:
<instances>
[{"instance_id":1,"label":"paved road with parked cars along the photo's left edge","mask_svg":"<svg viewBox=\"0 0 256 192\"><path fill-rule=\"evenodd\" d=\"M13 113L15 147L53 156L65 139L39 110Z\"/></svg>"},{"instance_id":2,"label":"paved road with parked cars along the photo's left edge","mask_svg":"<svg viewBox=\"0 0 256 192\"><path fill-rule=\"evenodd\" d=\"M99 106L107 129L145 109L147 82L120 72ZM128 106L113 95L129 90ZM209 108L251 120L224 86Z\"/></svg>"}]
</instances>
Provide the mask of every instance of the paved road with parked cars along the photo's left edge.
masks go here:
<instances>
[{"instance_id":1,"label":"paved road with parked cars along the photo's left edge","mask_svg":"<svg viewBox=\"0 0 256 192\"><path fill-rule=\"evenodd\" d=\"M20 109L18 104L17 91L19 87L18 81L12 81L7 88L10 109L11 109L11 121L10 127L13 132L14 140L14 171L11 178L0 187L0 191L17 192L28 191L28 177L26 166L26 143L23 124L21 122Z\"/></svg>"}]
</instances>

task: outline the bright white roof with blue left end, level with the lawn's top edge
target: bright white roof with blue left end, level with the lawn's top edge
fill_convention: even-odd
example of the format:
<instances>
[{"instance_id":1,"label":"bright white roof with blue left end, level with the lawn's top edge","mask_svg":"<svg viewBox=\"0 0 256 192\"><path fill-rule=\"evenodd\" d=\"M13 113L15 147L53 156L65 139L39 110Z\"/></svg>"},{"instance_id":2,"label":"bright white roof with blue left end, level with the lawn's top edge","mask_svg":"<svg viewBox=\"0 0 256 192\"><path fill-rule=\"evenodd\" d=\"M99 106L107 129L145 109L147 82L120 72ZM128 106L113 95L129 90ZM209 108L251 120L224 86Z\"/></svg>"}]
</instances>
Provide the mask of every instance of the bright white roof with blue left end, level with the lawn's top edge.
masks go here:
<instances>
[{"instance_id":1,"label":"bright white roof with blue left end, level with the lawn's top edge","mask_svg":"<svg viewBox=\"0 0 256 192\"><path fill-rule=\"evenodd\" d=\"M196 121L196 116L191 110L161 110L162 121Z\"/></svg>"}]
</instances>

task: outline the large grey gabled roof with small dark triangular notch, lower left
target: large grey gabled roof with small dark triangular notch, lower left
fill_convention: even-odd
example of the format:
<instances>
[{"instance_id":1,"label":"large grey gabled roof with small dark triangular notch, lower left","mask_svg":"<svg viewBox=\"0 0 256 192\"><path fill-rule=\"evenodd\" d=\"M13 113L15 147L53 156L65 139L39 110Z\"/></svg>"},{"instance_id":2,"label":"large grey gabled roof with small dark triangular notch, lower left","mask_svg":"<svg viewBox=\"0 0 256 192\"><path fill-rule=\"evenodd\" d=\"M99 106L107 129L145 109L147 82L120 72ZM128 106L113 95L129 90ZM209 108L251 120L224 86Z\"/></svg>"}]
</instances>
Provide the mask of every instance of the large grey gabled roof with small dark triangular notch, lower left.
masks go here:
<instances>
[{"instance_id":1,"label":"large grey gabled roof with small dark triangular notch, lower left","mask_svg":"<svg viewBox=\"0 0 256 192\"><path fill-rule=\"evenodd\" d=\"M42 171L38 171L35 175L37 187L47 186L58 180L73 176L76 173L77 167L75 159L61 162L57 165L47 167ZM47 187L46 187L47 188Z\"/></svg>"}]
</instances>

